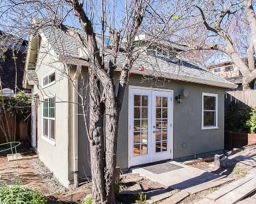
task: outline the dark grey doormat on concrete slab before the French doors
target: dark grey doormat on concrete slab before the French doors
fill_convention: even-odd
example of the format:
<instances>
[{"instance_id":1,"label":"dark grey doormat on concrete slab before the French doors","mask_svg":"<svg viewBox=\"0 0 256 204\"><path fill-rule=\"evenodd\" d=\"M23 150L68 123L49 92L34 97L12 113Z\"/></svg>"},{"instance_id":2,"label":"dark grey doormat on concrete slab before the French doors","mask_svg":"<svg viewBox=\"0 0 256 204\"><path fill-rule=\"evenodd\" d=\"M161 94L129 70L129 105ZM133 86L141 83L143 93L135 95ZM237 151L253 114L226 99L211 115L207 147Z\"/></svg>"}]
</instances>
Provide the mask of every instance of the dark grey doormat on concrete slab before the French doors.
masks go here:
<instances>
[{"instance_id":1,"label":"dark grey doormat on concrete slab before the French doors","mask_svg":"<svg viewBox=\"0 0 256 204\"><path fill-rule=\"evenodd\" d=\"M144 170L147 170L149 172L152 172L154 174L163 174L166 172L171 172L174 170L182 169L182 166L178 166L176 164L172 163L162 163L162 164L152 164L150 166L143 167Z\"/></svg>"}]
</instances>

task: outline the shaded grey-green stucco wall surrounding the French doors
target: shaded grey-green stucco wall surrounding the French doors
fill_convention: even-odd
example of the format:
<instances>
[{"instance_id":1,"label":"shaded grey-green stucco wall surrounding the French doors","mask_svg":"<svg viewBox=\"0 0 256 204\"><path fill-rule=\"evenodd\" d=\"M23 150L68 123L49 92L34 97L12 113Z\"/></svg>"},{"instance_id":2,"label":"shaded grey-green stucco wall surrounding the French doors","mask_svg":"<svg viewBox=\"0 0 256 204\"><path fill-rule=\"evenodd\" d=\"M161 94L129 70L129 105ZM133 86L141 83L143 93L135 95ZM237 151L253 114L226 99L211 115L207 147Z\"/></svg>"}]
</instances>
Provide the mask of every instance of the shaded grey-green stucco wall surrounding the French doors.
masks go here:
<instances>
[{"instance_id":1,"label":"shaded grey-green stucco wall surrounding the French doors","mask_svg":"<svg viewBox=\"0 0 256 204\"><path fill-rule=\"evenodd\" d=\"M84 70L86 74L86 70ZM119 72L116 72L114 82L117 82ZM116 83L118 84L118 83ZM152 87L174 90L174 98L180 94L180 89L188 90L188 97L183 99L182 104L174 100L173 113L173 156L182 158L220 150L224 147L224 88L214 87L211 85L190 83L186 81L166 80L163 84L160 81L142 81L142 76L130 74L129 83L126 86L122 111L120 113L119 130L118 130L118 154L117 165L120 168L128 168L128 102L129 102L129 85L140 87ZM217 129L202 130L202 93L215 93L218 96L218 115ZM78 113L82 109L78 107ZM183 148L182 144L188 144ZM78 165L79 176L90 176L88 164L90 160L90 151L84 119L82 115L78 116Z\"/></svg>"}]
</instances>

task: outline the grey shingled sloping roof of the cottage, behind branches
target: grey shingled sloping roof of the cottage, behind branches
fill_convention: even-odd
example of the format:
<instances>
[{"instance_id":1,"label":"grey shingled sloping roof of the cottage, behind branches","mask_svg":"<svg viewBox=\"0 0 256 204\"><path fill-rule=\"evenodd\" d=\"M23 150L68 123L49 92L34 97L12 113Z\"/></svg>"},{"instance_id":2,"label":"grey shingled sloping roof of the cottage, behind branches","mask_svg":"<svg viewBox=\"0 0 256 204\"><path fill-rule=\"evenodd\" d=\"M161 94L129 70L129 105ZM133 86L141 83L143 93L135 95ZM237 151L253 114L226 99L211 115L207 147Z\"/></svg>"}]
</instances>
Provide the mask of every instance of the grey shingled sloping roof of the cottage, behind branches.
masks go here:
<instances>
[{"instance_id":1,"label":"grey shingled sloping roof of the cottage, behind branches","mask_svg":"<svg viewBox=\"0 0 256 204\"><path fill-rule=\"evenodd\" d=\"M71 26L69 26L71 28ZM74 28L80 34L84 34L83 30L80 28ZM51 28L42 28L41 32L44 32L45 37L51 44L51 47L57 52L57 54L63 54L65 56L71 56L73 58L78 58L78 48L82 48L80 42L64 34L63 30L51 26ZM54 36L54 37L51 37ZM98 38L98 36L97 36ZM100 41L98 41L98 48L101 48ZM109 56L106 56L106 62L109 60ZM118 55L117 64L123 64L125 56L123 54ZM179 60L179 59L178 59ZM202 68L201 66L192 64L192 62L181 60L181 62L174 62L174 60L164 60L164 58L156 58L156 56L150 56L144 53L134 62L134 67L138 68L140 66L145 66L148 70L156 70L156 72L168 73L168 76L172 78L172 75L184 76L184 78L194 77L195 79L202 79L208 81L217 81L219 83L224 83L227 86L233 85L230 81L219 77L209 70ZM198 83L196 80L193 81Z\"/></svg>"}]
</instances>

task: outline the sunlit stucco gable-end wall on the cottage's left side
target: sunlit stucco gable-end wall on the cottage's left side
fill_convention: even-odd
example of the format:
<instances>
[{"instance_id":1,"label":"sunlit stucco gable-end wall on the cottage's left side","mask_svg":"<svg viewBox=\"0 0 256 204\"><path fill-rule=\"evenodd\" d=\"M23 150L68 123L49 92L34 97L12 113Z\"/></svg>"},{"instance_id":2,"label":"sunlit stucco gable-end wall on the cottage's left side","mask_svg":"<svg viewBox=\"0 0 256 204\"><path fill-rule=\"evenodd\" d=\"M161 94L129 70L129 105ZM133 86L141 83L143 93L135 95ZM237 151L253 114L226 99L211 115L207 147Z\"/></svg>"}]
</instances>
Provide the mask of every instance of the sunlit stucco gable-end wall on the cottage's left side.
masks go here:
<instances>
[{"instance_id":1,"label":"sunlit stucco gable-end wall on the cottage's left side","mask_svg":"<svg viewBox=\"0 0 256 204\"><path fill-rule=\"evenodd\" d=\"M33 94L39 95L38 107L38 147L39 159L68 187L68 103L55 103L55 144L43 136L43 97L55 95L55 101L68 101L68 79L63 77L63 64L56 62L53 53L49 52L45 41L41 41L36 72L39 86L34 85ZM43 76L55 70L55 83L43 87Z\"/></svg>"}]
</instances>

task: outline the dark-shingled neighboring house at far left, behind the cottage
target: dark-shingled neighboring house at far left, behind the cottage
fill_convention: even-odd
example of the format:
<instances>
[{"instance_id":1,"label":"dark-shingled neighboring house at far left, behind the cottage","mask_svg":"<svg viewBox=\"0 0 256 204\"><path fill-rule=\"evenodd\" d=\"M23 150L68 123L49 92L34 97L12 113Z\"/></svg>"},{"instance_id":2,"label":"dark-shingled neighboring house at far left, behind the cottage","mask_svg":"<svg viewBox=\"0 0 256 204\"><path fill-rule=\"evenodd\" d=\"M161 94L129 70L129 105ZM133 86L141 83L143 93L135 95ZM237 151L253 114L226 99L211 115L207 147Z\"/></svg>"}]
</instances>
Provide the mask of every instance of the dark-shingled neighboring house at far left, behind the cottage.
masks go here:
<instances>
[{"instance_id":1,"label":"dark-shingled neighboring house at far left, behind the cottage","mask_svg":"<svg viewBox=\"0 0 256 204\"><path fill-rule=\"evenodd\" d=\"M16 44L15 46L10 45L8 48L5 48L6 42L4 35L5 34L0 30L0 77L4 95L12 97L15 94L15 83L17 83L17 93L24 90L22 82L27 56L25 46L27 46L28 42L27 40L23 40L21 44ZM4 50L2 50L1 47ZM14 59L14 57L16 57L16 59ZM16 79L17 81L15 82ZM30 90L27 91L30 93Z\"/></svg>"}]
</instances>

